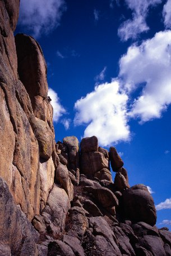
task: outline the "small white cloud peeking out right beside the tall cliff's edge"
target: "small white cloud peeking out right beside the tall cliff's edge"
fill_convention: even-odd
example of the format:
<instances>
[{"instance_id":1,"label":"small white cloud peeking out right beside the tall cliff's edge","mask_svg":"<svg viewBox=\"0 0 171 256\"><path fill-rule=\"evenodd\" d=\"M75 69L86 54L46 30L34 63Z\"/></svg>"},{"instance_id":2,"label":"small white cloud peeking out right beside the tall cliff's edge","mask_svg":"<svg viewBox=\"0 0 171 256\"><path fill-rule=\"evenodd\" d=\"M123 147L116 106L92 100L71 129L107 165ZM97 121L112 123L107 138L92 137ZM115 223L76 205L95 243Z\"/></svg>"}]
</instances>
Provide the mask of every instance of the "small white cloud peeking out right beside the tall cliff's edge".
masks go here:
<instances>
[{"instance_id":1,"label":"small white cloud peeking out right beside the tall cliff's edge","mask_svg":"<svg viewBox=\"0 0 171 256\"><path fill-rule=\"evenodd\" d=\"M58 122L59 117L61 117L62 114L65 114L66 110L62 107L56 91L49 88L48 95L52 100L50 101L50 103L52 104L52 107L53 107L53 121Z\"/></svg>"}]
</instances>

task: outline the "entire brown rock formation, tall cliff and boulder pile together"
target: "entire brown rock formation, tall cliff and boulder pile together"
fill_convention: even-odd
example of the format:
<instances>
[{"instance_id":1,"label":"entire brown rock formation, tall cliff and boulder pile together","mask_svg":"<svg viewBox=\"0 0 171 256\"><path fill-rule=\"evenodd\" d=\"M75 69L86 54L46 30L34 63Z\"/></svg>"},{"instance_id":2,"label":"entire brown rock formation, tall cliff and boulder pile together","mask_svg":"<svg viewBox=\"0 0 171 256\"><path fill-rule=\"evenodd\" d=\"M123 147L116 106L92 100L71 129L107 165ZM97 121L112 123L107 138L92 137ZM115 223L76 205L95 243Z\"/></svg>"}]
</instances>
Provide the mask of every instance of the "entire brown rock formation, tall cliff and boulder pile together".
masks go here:
<instances>
[{"instance_id":1,"label":"entire brown rock formation, tall cliff and boulder pile together","mask_svg":"<svg viewBox=\"0 0 171 256\"><path fill-rule=\"evenodd\" d=\"M171 232L114 147L55 142L43 52L13 36L19 4L0 1L0 255L171 255Z\"/></svg>"}]
</instances>

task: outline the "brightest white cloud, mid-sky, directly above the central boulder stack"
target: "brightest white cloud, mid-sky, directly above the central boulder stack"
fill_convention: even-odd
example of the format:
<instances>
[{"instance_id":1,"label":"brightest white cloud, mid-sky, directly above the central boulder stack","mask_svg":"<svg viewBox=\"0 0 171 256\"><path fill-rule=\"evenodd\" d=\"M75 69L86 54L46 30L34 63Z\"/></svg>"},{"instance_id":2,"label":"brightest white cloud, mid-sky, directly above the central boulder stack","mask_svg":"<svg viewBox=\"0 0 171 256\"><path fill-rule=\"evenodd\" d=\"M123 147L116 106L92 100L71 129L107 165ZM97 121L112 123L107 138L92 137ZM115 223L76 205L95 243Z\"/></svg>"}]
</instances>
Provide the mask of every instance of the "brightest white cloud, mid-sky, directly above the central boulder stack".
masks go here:
<instances>
[{"instance_id":1,"label":"brightest white cloud, mid-sky, directly above the central boulder stack","mask_svg":"<svg viewBox=\"0 0 171 256\"><path fill-rule=\"evenodd\" d=\"M119 92L118 81L95 86L93 92L76 101L74 123L87 124L84 137L96 135L102 146L129 140L127 100L128 96Z\"/></svg>"}]
</instances>

